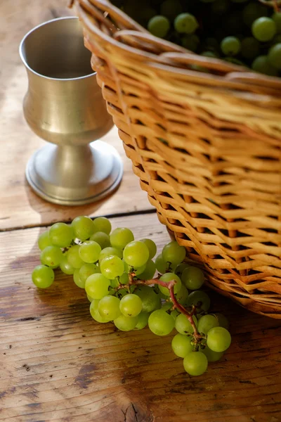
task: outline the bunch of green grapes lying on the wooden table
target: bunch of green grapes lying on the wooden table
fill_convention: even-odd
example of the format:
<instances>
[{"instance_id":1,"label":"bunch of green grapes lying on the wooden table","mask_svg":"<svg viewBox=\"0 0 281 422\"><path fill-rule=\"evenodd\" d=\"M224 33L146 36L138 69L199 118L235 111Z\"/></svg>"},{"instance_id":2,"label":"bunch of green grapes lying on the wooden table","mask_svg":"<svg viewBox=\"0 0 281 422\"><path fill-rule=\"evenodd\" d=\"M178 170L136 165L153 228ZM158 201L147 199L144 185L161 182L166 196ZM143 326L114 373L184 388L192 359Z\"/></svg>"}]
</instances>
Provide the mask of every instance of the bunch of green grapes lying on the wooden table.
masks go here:
<instances>
[{"instance_id":1,"label":"bunch of green grapes lying on the wooden table","mask_svg":"<svg viewBox=\"0 0 281 422\"><path fill-rule=\"evenodd\" d=\"M230 346L226 317L208 313L209 296L200 290L203 272L185 262L185 248L176 241L155 258L157 246L151 239L136 241L124 227L112 231L105 217L80 216L70 225L53 224L39 236L38 245L41 264L32 272L35 286L50 287L54 269L60 268L85 290L95 321L112 321L121 331L148 326L156 335L176 328L171 347L190 375L204 373L208 362L220 359Z\"/></svg>"}]
</instances>

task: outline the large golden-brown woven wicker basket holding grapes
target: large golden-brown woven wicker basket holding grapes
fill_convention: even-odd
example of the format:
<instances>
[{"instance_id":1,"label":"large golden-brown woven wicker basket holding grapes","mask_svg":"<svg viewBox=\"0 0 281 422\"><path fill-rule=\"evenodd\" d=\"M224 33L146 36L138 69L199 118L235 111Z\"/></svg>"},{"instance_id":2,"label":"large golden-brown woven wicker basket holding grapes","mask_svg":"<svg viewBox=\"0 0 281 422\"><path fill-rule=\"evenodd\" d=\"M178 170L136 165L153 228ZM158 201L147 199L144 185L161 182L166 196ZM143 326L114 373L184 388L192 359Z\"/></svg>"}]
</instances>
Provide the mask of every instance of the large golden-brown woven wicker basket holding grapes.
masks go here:
<instances>
[{"instance_id":1,"label":"large golden-brown woven wicker basket holding grapes","mask_svg":"<svg viewBox=\"0 0 281 422\"><path fill-rule=\"evenodd\" d=\"M157 39L107 0L75 3L160 222L212 288L281 318L281 79Z\"/></svg>"}]
</instances>

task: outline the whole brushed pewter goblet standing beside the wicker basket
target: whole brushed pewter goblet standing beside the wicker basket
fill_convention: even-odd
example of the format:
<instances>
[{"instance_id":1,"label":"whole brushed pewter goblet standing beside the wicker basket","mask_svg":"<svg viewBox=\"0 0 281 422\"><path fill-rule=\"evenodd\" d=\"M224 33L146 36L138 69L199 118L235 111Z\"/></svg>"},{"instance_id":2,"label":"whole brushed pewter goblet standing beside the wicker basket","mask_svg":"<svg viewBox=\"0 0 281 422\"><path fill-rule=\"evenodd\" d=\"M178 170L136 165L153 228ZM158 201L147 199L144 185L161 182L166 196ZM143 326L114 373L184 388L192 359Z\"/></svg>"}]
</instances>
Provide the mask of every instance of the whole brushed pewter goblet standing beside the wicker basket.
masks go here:
<instances>
[{"instance_id":1,"label":"whole brushed pewter goblet standing beside the wicker basket","mask_svg":"<svg viewBox=\"0 0 281 422\"><path fill-rule=\"evenodd\" d=\"M122 179L123 166L115 148L97 140L113 122L78 18L35 27L22 39L20 57L29 82L25 119L35 134L51 142L27 164L30 186L61 205L96 202L109 195Z\"/></svg>"}]
</instances>

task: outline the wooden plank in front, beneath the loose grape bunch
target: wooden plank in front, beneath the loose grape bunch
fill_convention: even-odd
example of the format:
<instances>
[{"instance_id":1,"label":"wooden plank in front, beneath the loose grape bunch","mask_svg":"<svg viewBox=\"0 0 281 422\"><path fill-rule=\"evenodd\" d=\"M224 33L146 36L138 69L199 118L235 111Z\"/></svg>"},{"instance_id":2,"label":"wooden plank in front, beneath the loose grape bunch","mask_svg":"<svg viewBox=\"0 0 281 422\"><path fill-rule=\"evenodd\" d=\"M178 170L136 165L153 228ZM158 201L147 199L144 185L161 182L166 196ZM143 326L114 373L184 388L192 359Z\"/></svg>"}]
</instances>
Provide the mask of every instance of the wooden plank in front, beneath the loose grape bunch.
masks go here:
<instances>
[{"instance_id":1,"label":"wooden plank in front, beneath the loose grape bunch","mask_svg":"<svg viewBox=\"0 0 281 422\"><path fill-rule=\"evenodd\" d=\"M112 224L150 236L160 250L168 241L156 215ZM71 277L34 288L42 230L0 234L1 421L281 421L279 321L211 293L230 320L233 344L221 362L191 378L171 352L171 335L97 324Z\"/></svg>"}]
</instances>

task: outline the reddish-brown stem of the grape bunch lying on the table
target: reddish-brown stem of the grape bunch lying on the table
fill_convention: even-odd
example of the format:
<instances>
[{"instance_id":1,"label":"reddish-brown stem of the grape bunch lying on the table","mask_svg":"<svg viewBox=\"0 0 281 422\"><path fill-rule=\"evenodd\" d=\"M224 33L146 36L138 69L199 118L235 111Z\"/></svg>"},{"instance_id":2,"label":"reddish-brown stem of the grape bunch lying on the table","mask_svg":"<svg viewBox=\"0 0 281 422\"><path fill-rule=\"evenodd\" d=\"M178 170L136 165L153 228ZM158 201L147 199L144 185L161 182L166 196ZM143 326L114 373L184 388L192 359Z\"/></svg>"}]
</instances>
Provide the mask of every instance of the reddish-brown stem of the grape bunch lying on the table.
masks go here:
<instances>
[{"instance_id":1,"label":"reddish-brown stem of the grape bunch lying on the table","mask_svg":"<svg viewBox=\"0 0 281 422\"><path fill-rule=\"evenodd\" d=\"M200 333L198 333L197 326L195 325L195 322L193 321L193 318L192 318L192 316L196 314L196 306L192 305L191 312L188 312L188 310L185 309L183 305L178 303L178 300L176 299L176 295L174 292L174 286L176 285L176 280L171 280L169 281L169 283L165 283L164 281L159 280L158 278L151 279L151 280L136 280L134 279L135 276L136 274L134 272L129 273L129 283L121 284L120 286L117 287L117 290L121 288L125 288L126 286L128 287L137 286L138 284L141 284L143 286L151 286L152 284L158 284L159 286L167 288L170 292L171 301L173 302L174 307L178 309L178 311L181 312L181 314L185 315L188 321L190 321L190 324L193 328L193 338L194 338L195 343L200 343L200 340L202 340L203 337L202 335L200 335Z\"/></svg>"}]
</instances>

